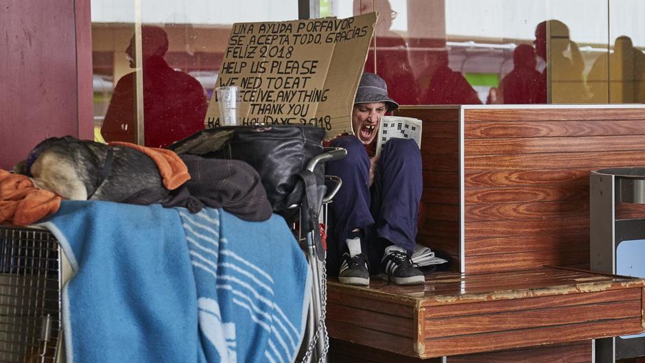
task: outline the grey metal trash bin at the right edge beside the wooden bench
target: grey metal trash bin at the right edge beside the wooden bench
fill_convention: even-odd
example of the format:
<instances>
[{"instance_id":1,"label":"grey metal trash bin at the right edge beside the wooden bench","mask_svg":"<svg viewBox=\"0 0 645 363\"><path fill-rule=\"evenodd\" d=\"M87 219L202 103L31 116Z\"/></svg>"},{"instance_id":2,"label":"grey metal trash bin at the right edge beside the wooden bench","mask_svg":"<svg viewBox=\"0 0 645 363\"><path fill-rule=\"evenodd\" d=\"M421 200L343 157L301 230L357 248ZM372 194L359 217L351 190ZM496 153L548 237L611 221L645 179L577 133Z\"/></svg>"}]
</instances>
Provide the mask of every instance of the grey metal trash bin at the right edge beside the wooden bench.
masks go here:
<instances>
[{"instance_id":1,"label":"grey metal trash bin at the right edge beside the wooden bench","mask_svg":"<svg viewBox=\"0 0 645 363\"><path fill-rule=\"evenodd\" d=\"M645 167L589 175L589 266L645 277ZM645 356L645 333L596 340L596 362Z\"/></svg>"}]
</instances>

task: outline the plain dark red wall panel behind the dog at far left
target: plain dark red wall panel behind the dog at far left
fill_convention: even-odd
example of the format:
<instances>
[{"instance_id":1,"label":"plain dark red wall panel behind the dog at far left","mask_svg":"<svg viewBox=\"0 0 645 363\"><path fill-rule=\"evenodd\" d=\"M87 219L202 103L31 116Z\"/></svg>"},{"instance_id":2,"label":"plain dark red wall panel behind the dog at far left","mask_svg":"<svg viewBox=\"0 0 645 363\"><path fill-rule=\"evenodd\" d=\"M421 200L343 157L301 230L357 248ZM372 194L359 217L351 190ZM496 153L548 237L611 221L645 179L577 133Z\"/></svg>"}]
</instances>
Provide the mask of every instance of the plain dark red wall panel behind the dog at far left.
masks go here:
<instances>
[{"instance_id":1,"label":"plain dark red wall panel behind the dog at far left","mask_svg":"<svg viewBox=\"0 0 645 363\"><path fill-rule=\"evenodd\" d=\"M47 137L93 137L89 4L0 2L0 168Z\"/></svg>"}]
</instances>

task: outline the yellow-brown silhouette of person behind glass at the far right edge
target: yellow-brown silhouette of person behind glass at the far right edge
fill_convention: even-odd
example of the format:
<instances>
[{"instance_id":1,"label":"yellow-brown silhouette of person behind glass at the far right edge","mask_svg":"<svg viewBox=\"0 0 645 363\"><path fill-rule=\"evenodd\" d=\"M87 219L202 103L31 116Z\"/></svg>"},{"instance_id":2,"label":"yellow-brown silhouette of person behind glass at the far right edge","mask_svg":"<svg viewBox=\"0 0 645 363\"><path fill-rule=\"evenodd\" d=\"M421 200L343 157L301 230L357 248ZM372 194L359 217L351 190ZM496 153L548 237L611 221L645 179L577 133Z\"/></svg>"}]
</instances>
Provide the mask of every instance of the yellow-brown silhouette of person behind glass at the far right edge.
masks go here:
<instances>
[{"instance_id":1,"label":"yellow-brown silhouette of person behind glass at the far right edge","mask_svg":"<svg viewBox=\"0 0 645 363\"><path fill-rule=\"evenodd\" d=\"M645 102L645 54L634 47L629 36L619 36L613 53L594 62L587 85L594 103Z\"/></svg>"}]
</instances>

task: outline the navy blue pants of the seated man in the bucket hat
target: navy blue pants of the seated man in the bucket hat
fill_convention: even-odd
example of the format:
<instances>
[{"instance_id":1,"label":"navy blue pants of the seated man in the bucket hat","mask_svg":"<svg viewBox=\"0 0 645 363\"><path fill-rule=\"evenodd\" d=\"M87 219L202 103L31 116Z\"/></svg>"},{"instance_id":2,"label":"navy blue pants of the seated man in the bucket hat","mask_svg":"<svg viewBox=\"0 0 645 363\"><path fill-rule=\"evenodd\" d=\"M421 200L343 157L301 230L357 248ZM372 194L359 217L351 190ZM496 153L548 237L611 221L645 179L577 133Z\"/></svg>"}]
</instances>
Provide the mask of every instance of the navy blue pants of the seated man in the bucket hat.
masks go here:
<instances>
[{"instance_id":1,"label":"navy blue pants of the seated man in the bucket hat","mask_svg":"<svg viewBox=\"0 0 645 363\"><path fill-rule=\"evenodd\" d=\"M412 139L390 139L381 157L372 187L368 187L370 159L357 137L339 137L331 143L347 156L327 164L327 175L340 176L342 186L329 204L327 270L337 275L345 239L361 229L361 249L372 273L379 272L384 249L396 244L410 251L416 244L419 201L423 189L421 153ZM391 243L388 243L391 242Z\"/></svg>"}]
</instances>

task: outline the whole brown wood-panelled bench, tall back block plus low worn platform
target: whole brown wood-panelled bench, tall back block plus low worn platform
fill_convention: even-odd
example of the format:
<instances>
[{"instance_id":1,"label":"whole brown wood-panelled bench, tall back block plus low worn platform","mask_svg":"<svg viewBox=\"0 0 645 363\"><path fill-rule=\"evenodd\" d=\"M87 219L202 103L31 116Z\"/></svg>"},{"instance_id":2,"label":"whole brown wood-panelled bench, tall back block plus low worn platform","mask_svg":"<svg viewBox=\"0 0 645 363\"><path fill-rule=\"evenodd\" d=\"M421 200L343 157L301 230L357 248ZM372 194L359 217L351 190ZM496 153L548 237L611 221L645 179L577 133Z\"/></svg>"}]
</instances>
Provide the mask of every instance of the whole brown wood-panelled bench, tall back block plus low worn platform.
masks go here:
<instances>
[{"instance_id":1,"label":"whole brown wood-panelled bench, tall back block plus low worn platform","mask_svg":"<svg viewBox=\"0 0 645 363\"><path fill-rule=\"evenodd\" d=\"M423 287L329 281L332 357L478 362L478 353L499 351L485 361L537 362L539 349L591 362L590 339L645 330L642 279L571 269L589 268L589 172L645 165L645 108L403 106L398 114L423 120L417 242L447 253L451 272Z\"/></svg>"}]
</instances>

